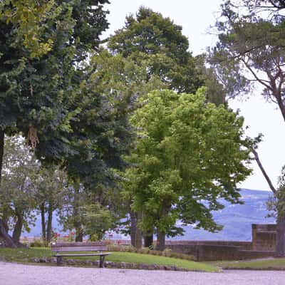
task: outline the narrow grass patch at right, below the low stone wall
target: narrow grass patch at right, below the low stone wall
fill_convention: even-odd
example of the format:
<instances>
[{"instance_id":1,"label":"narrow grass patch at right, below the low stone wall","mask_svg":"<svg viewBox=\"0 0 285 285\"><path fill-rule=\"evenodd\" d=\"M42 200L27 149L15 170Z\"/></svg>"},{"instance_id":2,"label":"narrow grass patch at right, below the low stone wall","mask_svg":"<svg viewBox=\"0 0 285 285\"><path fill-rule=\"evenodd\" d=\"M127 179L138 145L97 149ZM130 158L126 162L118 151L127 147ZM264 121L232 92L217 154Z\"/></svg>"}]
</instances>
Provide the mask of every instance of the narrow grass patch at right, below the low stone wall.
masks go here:
<instances>
[{"instance_id":1,"label":"narrow grass patch at right, below the low stone wall","mask_svg":"<svg viewBox=\"0 0 285 285\"><path fill-rule=\"evenodd\" d=\"M285 259L261 259L253 261L214 261L209 262L223 269L262 269L262 270L285 270Z\"/></svg>"}]
</instances>

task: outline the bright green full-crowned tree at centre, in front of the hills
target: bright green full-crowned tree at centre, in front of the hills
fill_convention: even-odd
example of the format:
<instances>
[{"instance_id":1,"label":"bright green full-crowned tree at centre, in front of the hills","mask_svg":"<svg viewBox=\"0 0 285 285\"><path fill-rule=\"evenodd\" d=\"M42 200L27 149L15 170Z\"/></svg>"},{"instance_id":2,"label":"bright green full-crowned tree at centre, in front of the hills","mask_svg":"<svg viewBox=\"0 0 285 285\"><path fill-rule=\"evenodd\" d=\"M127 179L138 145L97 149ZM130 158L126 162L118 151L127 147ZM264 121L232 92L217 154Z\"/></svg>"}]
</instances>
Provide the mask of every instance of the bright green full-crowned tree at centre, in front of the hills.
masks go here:
<instances>
[{"instance_id":1,"label":"bright green full-crowned tree at centre, in front of the hills","mask_svg":"<svg viewBox=\"0 0 285 285\"><path fill-rule=\"evenodd\" d=\"M239 202L236 185L251 173L245 163L252 141L243 138L243 118L224 105L205 103L204 93L154 91L132 118L139 138L124 186L142 214L140 227L157 230L159 250L165 235L182 234L177 219L221 229L211 212L222 209L219 198Z\"/></svg>"}]
</instances>

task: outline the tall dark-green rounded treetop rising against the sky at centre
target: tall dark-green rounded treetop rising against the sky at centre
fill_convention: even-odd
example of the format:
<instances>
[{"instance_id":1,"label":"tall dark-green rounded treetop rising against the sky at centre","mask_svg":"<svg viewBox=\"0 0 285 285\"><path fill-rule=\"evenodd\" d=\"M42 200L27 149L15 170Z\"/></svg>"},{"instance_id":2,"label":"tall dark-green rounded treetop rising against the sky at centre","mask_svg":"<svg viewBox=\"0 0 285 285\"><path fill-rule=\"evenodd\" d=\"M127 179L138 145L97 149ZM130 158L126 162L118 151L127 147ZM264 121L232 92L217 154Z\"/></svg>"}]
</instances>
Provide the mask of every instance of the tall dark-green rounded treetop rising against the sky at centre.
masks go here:
<instances>
[{"instance_id":1,"label":"tall dark-green rounded treetop rising against the sky at centre","mask_svg":"<svg viewBox=\"0 0 285 285\"><path fill-rule=\"evenodd\" d=\"M181 31L169 18L140 7L136 16L127 16L125 26L108 39L108 48L138 65L146 64L149 76L159 76L170 89L195 93L202 80Z\"/></svg>"}]
</instances>

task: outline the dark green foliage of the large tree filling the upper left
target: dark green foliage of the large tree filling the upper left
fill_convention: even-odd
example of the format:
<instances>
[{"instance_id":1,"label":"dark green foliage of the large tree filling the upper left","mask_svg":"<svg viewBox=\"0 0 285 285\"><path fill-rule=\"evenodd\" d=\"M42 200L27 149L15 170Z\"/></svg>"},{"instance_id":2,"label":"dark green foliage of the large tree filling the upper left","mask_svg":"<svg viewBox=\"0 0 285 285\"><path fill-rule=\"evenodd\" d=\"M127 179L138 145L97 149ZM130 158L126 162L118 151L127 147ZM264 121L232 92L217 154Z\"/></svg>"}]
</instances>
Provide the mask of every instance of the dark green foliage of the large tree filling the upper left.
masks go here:
<instances>
[{"instance_id":1,"label":"dark green foliage of the large tree filling the upper left","mask_svg":"<svg viewBox=\"0 0 285 285\"><path fill-rule=\"evenodd\" d=\"M125 110L129 98L96 88L94 73L100 68L86 61L108 28L107 3L38 1L31 9L28 1L1 5L0 131L22 133L46 167L38 180L38 199L48 211L51 204L53 209L60 204L63 187L59 170L47 173L51 165L60 165L71 183L82 185L86 197L98 185L109 189L113 170L125 166L121 155L128 152L132 133Z\"/></svg>"}]
</instances>

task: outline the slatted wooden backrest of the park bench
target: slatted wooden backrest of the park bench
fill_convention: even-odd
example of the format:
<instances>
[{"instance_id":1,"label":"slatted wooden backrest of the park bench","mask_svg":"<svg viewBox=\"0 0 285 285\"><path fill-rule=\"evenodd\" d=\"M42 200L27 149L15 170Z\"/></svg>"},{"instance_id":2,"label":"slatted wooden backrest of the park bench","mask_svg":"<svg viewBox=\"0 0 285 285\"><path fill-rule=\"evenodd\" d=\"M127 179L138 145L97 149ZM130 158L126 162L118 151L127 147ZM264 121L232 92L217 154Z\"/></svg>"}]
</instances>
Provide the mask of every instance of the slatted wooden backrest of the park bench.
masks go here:
<instances>
[{"instance_id":1,"label":"slatted wooden backrest of the park bench","mask_svg":"<svg viewBox=\"0 0 285 285\"><path fill-rule=\"evenodd\" d=\"M105 252L105 242L57 242L51 244L52 252Z\"/></svg>"}]
</instances>

